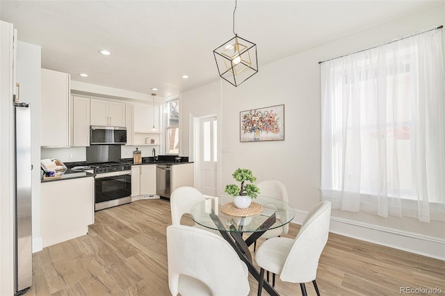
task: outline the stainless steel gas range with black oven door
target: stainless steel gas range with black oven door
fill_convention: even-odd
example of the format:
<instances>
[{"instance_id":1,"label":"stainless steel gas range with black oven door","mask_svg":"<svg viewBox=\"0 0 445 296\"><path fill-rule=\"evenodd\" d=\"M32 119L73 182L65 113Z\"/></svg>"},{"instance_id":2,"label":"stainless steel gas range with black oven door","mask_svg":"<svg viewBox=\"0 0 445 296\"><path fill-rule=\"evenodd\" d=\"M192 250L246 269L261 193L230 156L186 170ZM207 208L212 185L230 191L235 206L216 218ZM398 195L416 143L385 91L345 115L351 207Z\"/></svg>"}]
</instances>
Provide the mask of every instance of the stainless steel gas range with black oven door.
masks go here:
<instances>
[{"instance_id":1,"label":"stainless steel gas range with black oven door","mask_svg":"<svg viewBox=\"0 0 445 296\"><path fill-rule=\"evenodd\" d=\"M95 211L131 202L131 164L95 163Z\"/></svg>"}]
</instances>

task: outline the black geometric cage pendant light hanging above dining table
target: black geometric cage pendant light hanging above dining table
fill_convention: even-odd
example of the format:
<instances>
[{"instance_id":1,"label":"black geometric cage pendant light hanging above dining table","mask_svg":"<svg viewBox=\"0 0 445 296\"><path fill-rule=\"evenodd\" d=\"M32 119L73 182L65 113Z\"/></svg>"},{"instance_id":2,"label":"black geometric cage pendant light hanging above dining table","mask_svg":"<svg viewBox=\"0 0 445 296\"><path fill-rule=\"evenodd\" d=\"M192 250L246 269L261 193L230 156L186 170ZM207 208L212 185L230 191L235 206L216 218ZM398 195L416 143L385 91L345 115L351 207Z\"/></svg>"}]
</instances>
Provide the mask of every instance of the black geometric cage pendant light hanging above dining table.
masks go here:
<instances>
[{"instance_id":1,"label":"black geometric cage pendant light hanging above dining table","mask_svg":"<svg viewBox=\"0 0 445 296\"><path fill-rule=\"evenodd\" d=\"M235 37L213 51L216 67L221 78L238 86L258 72L257 44L241 38L235 32L235 12L233 32Z\"/></svg>"}]
</instances>

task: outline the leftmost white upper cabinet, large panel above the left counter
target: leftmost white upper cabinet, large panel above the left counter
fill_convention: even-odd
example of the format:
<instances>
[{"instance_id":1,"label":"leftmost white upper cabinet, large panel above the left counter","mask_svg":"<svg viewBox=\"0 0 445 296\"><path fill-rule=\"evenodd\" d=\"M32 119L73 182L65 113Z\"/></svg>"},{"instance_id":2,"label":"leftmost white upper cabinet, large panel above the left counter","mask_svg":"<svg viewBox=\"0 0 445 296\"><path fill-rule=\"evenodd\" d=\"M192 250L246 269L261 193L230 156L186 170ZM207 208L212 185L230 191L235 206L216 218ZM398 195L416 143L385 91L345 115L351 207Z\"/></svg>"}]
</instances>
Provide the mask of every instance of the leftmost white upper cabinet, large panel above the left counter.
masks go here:
<instances>
[{"instance_id":1,"label":"leftmost white upper cabinet, large panel above the left counter","mask_svg":"<svg viewBox=\"0 0 445 296\"><path fill-rule=\"evenodd\" d=\"M70 145L70 74L42 69L42 144Z\"/></svg>"}]
</instances>

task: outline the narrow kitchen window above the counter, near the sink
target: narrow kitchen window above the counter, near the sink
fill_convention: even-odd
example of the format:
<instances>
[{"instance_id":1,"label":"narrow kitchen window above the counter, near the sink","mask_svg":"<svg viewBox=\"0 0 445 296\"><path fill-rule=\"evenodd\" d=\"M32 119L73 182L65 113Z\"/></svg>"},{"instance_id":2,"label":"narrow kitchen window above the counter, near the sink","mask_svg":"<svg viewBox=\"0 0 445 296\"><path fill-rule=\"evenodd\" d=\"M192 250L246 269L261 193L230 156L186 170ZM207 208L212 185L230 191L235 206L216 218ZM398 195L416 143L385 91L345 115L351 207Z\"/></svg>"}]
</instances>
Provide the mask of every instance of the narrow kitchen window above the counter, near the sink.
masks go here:
<instances>
[{"instance_id":1,"label":"narrow kitchen window above the counter, near the sink","mask_svg":"<svg viewBox=\"0 0 445 296\"><path fill-rule=\"evenodd\" d=\"M167 101L165 110L166 154L179 154L179 99Z\"/></svg>"}]
</instances>

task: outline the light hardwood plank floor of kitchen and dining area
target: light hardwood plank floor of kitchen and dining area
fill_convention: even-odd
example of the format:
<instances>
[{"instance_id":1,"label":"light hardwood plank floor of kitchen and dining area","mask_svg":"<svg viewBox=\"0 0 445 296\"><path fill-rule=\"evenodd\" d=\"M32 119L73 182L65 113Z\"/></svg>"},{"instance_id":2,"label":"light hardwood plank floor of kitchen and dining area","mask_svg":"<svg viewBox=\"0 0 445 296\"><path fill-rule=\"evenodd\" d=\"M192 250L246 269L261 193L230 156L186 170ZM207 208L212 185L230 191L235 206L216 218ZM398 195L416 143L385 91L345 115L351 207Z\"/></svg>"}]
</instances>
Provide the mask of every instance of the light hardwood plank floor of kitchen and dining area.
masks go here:
<instances>
[{"instance_id":1,"label":"light hardwood plank floor of kitchen and dining area","mask_svg":"<svg viewBox=\"0 0 445 296\"><path fill-rule=\"evenodd\" d=\"M33 254L33 286L25 295L170 295L165 238L170 224L170 203L163 199L96 212L88 235ZM291 224L286 236L294 238L298 229ZM401 295L401 287L445 293L445 263L330 233L317 283L321 295ZM252 276L250 288L249 295L257 295ZM275 288L280 295L301 295L298 284L278 277ZM316 295L312 283L307 290Z\"/></svg>"}]
</instances>

